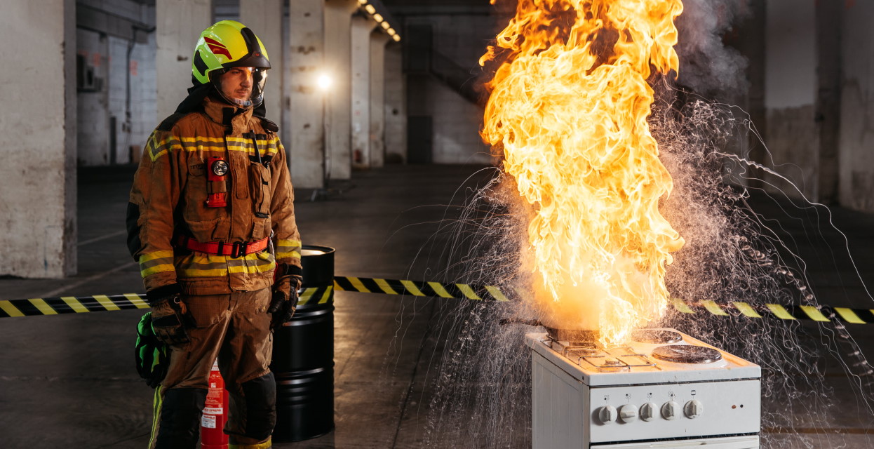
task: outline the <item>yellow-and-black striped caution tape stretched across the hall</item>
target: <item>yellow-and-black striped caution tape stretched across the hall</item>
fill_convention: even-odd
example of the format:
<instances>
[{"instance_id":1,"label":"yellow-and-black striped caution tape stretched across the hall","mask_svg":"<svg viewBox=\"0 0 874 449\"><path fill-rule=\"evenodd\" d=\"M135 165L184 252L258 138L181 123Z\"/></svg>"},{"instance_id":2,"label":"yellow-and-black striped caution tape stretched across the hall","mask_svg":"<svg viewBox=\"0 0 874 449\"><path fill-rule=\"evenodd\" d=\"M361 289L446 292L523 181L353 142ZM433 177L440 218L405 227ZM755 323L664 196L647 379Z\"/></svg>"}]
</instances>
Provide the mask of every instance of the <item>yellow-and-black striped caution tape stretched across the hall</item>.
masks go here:
<instances>
[{"instance_id":1,"label":"yellow-and-black striped caution tape stretched across the hall","mask_svg":"<svg viewBox=\"0 0 874 449\"><path fill-rule=\"evenodd\" d=\"M334 290L498 302L514 300L519 295L516 292L504 292L500 288L493 286L337 276L334 278L333 286L303 289L299 305L328 303L332 298L331 294ZM0 318L148 308L149 304L146 303L145 296L145 294L97 294L94 296L0 300ZM683 314L697 314L700 312L718 316L745 316L755 319L776 318L787 321L843 321L850 324L874 324L874 309L871 308L782 306L780 304L753 305L742 301L717 303L712 300L688 301L677 299L672 300L671 306Z\"/></svg>"}]
</instances>

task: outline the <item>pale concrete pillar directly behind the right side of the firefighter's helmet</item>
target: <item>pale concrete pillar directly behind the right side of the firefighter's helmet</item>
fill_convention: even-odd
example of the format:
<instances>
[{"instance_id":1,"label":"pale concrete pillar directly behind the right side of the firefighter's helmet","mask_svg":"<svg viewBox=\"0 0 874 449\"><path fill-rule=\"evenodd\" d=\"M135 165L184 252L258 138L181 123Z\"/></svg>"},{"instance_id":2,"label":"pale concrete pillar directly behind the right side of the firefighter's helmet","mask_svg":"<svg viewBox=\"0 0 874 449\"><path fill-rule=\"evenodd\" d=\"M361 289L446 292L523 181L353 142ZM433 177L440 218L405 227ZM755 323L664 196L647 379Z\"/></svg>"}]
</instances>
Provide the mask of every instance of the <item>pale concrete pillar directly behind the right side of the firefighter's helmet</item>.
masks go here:
<instances>
[{"instance_id":1,"label":"pale concrete pillar directly behind the right side of the firefighter's helmet","mask_svg":"<svg viewBox=\"0 0 874 449\"><path fill-rule=\"evenodd\" d=\"M295 2L292 2L295 3ZM246 0L239 3L239 22L261 39L270 58L264 104L267 118L282 123L282 0Z\"/></svg>"}]
</instances>

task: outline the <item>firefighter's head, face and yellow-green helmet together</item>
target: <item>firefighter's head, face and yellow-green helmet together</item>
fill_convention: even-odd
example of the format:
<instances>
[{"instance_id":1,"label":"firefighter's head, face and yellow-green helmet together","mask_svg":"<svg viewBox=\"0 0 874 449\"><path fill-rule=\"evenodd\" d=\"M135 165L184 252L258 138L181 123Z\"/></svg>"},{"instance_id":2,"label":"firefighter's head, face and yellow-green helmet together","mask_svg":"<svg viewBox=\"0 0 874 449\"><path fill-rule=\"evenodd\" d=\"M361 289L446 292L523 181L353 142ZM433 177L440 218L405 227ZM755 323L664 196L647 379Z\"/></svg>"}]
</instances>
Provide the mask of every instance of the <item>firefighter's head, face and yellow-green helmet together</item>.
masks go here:
<instances>
[{"instance_id":1,"label":"firefighter's head, face and yellow-green helmet together","mask_svg":"<svg viewBox=\"0 0 874 449\"><path fill-rule=\"evenodd\" d=\"M270 60L261 40L246 25L222 20L200 33L191 62L195 84L212 84L228 103L258 107Z\"/></svg>"}]
</instances>

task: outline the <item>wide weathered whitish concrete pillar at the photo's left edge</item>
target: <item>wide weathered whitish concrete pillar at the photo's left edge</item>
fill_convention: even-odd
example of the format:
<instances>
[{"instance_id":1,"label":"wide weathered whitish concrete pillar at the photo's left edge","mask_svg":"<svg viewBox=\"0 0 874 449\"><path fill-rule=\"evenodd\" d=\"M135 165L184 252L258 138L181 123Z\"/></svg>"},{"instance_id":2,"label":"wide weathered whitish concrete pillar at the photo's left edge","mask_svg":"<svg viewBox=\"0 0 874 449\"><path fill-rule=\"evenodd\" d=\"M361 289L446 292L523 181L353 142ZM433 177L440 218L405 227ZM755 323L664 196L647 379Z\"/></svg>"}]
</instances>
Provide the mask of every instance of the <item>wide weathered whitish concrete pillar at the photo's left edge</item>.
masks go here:
<instances>
[{"instance_id":1,"label":"wide weathered whitish concrete pillar at the photo's left edge","mask_svg":"<svg viewBox=\"0 0 874 449\"><path fill-rule=\"evenodd\" d=\"M0 66L0 274L76 273L76 2L7 0L0 40L31 58Z\"/></svg>"}]
</instances>

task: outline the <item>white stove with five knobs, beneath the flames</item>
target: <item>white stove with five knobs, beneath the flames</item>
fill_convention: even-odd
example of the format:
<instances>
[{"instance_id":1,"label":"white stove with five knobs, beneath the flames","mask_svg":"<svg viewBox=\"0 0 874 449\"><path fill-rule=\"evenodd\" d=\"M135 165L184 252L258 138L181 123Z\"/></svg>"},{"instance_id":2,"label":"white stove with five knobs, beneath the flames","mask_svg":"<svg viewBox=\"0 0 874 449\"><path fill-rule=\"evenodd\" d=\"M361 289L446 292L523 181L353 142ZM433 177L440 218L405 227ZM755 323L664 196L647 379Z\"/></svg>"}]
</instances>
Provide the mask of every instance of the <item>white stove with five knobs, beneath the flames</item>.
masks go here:
<instances>
[{"instance_id":1,"label":"white stove with five knobs, beneath the flames","mask_svg":"<svg viewBox=\"0 0 874 449\"><path fill-rule=\"evenodd\" d=\"M605 349L525 335L534 449L758 449L754 363L675 329Z\"/></svg>"}]
</instances>

